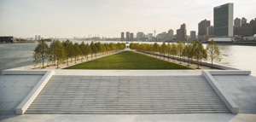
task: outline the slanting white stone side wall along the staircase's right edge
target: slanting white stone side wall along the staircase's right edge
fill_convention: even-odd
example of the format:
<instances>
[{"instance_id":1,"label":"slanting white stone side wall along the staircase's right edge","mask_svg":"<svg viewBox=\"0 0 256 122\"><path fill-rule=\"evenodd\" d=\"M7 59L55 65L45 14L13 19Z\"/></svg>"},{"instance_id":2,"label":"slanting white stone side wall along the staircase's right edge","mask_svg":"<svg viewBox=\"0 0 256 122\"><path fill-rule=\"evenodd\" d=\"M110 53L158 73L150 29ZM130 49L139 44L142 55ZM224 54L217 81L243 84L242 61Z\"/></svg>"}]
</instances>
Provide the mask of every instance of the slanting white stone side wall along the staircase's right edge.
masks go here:
<instances>
[{"instance_id":1,"label":"slanting white stone side wall along the staircase's right edge","mask_svg":"<svg viewBox=\"0 0 256 122\"><path fill-rule=\"evenodd\" d=\"M223 73L222 73L223 74ZM221 87L220 84L212 77L212 74L209 71L202 71L202 75L207 78L209 84L211 84L213 90L218 94L221 100L225 103L225 105L230 109L231 113L238 113L239 107L236 103L230 98L230 96L226 93L226 91Z\"/></svg>"}]
</instances>

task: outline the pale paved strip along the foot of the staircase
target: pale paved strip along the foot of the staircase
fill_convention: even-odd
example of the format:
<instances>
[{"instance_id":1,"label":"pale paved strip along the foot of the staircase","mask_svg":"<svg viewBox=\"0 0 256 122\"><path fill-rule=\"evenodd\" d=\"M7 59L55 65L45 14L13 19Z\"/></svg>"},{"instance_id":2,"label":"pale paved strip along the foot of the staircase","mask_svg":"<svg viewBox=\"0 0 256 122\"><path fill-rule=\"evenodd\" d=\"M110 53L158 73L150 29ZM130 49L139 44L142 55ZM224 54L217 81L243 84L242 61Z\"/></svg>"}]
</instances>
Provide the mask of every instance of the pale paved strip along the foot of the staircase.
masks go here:
<instances>
[{"instance_id":1,"label":"pale paved strip along the foot of the staircase","mask_svg":"<svg viewBox=\"0 0 256 122\"><path fill-rule=\"evenodd\" d=\"M0 116L1 122L255 122L256 114L25 114Z\"/></svg>"}]
</instances>

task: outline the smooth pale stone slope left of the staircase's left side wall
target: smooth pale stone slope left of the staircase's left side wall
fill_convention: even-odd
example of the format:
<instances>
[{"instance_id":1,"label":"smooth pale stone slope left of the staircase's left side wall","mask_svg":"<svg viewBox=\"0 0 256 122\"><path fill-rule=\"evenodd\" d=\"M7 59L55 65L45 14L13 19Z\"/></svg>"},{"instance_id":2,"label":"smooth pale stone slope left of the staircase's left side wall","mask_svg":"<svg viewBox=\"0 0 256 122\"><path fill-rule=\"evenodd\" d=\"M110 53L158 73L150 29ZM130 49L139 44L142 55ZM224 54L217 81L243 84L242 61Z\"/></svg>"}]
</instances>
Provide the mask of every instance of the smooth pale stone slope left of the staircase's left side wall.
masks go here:
<instances>
[{"instance_id":1,"label":"smooth pale stone slope left of the staircase's left side wall","mask_svg":"<svg viewBox=\"0 0 256 122\"><path fill-rule=\"evenodd\" d=\"M15 114L16 107L43 75L0 75L0 115Z\"/></svg>"}]
</instances>

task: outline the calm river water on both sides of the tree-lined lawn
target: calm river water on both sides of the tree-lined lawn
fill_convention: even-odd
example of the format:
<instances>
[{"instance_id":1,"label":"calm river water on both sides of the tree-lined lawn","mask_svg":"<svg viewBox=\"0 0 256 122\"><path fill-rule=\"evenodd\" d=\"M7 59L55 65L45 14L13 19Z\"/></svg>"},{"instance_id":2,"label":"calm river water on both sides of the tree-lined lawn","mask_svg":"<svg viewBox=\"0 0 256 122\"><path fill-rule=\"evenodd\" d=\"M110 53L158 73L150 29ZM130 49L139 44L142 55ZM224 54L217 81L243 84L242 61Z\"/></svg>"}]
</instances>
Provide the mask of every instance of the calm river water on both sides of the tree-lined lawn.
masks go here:
<instances>
[{"instance_id":1,"label":"calm river water on both sides of the tree-lined lawn","mask_svg":"<svg viewBox=\"0 0 256 122\"><path fill-rule=\"evenodd\" d=\"M73 40L73 42L81 43L78 40ZM110 41L101 42L110 43ZM90 43L90 41L84 41L84 43ZM37 43L0 44L0 71L34 64L32 54L36 46ZM256 76L256 46L218 46L222 57L218 64L242 70L251 70L253 75Z\"/></svg>"}]
</instances>

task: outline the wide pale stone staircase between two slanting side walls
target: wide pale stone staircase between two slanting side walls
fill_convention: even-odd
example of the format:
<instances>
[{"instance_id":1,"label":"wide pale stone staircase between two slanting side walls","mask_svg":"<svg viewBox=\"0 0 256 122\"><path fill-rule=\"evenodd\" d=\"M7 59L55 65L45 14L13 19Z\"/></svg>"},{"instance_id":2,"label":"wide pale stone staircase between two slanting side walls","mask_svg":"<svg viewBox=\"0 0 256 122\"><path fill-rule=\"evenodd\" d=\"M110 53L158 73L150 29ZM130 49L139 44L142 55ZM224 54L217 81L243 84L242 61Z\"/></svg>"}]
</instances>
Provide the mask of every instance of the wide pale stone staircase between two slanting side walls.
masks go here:
<instances>
[{"instance_id":1,"label":"wide pale stone staircase between two slanting side walls","mask_svg":"<svg viewBox=\"0 0 256 122\"><path fill-rule=\"evenodd\" d=\"M230 113L201 75L54 75L26 113Z\"/></svg>"}]
</instances>

